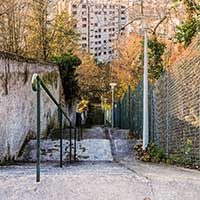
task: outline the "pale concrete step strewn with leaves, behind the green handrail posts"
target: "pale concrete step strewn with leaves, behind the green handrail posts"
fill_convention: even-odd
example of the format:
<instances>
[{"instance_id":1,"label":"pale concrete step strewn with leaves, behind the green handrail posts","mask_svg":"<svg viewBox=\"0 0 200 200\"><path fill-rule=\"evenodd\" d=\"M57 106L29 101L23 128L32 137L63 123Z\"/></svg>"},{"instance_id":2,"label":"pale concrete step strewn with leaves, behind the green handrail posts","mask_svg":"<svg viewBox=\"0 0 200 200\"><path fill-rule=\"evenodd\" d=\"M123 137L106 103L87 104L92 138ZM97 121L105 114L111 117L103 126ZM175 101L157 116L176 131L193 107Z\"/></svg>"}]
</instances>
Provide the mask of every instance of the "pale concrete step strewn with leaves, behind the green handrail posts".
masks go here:
<instances>
[{"instance_id":1,"label":"pale concrete step strewn with leaves, behind the green handrail posts","mask_svg":"<svg viewBox=\"0 0 200 200\"><path fill-rule=\"evenodd\" d=\"M74 145L72 145L72 156ZM41 140L41 161L59 161L60 140ZM23 150L20 161L36 161L36 140L31 140ZM69 140L63 140L63 161L69 160ZM84 139L77 142L77 160L112 161L110 141L106 139Z\"/></svg>"}]
</instances>

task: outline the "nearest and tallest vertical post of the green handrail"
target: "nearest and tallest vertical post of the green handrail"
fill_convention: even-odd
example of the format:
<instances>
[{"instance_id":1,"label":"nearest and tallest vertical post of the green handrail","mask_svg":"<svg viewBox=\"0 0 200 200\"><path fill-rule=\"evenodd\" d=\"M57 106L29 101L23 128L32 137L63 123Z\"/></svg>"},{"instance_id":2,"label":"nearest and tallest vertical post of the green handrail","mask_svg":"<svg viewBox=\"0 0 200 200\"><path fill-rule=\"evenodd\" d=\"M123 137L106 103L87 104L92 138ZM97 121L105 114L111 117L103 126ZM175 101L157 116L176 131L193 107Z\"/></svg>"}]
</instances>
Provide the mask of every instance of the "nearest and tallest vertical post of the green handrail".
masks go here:
<instances>
[{"instance_id":1,"label":"nearest and tallest vertical post of the green handrail","mask_svg":"<svg viewBox=\"0 0 200 200\"><path fill-rule=\"evenodd\" d=\"M40 182L40 80L37 79L37 164L36 164L36 182Z\"/></svg>"}]
</instances>

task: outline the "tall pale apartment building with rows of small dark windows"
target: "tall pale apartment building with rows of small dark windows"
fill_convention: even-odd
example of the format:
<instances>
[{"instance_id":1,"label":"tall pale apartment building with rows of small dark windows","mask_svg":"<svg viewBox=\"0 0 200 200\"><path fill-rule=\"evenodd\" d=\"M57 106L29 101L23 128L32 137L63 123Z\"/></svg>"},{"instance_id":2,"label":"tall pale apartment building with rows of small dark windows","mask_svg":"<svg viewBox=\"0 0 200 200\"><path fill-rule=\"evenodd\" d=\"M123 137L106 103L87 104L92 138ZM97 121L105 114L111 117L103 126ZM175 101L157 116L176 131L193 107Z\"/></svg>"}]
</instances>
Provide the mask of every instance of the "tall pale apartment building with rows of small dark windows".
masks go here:
<instances>
[{"instance_id":1,"label":"tall pale apartment building with rows of small dark windows","mask_svg":"<svg viewBox=\"0 0 200 200\"><path fill-rule=\"evenodd\" d=\"M99 62L112 60L114 45L128 23L128 9L121 1L75 0L69 13L77 21L79 44Z\"/></svg>"}]
</instances>

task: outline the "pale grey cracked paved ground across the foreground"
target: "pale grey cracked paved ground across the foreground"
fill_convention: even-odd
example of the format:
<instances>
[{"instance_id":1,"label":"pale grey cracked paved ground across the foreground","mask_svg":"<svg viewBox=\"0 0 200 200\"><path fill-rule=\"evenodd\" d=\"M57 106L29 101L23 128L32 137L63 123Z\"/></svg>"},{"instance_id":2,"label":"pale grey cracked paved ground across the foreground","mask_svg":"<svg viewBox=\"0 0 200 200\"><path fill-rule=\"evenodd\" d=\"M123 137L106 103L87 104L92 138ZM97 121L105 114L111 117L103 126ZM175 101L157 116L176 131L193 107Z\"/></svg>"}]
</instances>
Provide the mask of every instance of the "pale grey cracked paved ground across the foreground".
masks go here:
<instances>
[{"instance_id":1,"label":"pale grey cracked paved ground across the foreground","mask_svg":"<svg viewBox=\"0 0 200 200\"><path fill-rule=\"evenodd\" d=\"M40 183L35 164L0 167L0 200L200 200L199 171L136 161L130 141L112 133L110 140L115 162L77 162L62 169L44 163Z\"/></svg>"}]
</instances>

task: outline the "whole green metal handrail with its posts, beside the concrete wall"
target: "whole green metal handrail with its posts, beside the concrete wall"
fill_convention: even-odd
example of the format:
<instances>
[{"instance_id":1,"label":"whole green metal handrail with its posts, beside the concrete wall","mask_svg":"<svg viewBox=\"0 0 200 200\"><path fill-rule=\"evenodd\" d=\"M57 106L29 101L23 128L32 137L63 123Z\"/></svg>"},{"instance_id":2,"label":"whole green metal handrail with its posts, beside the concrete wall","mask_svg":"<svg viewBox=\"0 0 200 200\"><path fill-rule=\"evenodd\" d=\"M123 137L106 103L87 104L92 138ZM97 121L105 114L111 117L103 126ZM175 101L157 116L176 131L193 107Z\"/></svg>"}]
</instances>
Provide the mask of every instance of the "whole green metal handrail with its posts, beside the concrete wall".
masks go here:
<instances>
[{"instance_id":1,"label":"whole green metal handrail with its posts, beside the concrete wall","mask_svg":"<svg viewBox=\"0 0 200 200\"><path fill-rule=\"evenodd\" d=\"M39 77L38 74L33 74L32 77L32 89L34 92L37 93L37 134L36 134L36 140L37 140L37 164L36 164L36 181L40 181L40 132L41 132L41 88L46 92L46 94L49 96L49 98L54 102L54 104L58 107L58 121L59 121L59 131L60 131L60 167L63 166L63 116L66 118L66 120L69 123L69 161L71 163L72 161L72 129L74 129L74 161L76 161L76 142L77 139L80 139L80 132L82 131L81 125L79 124L78 127L74 127L72 125L71 120L67 116L67 114L64 112L62 106L56 101L56 99L53 97L49 89L46 87L42 79ZM78 129L78 131L77 131ZM77 137L78 133L78 137ZM81 134L82 135L82 134Z\"/></svg>"}]
</instances>

